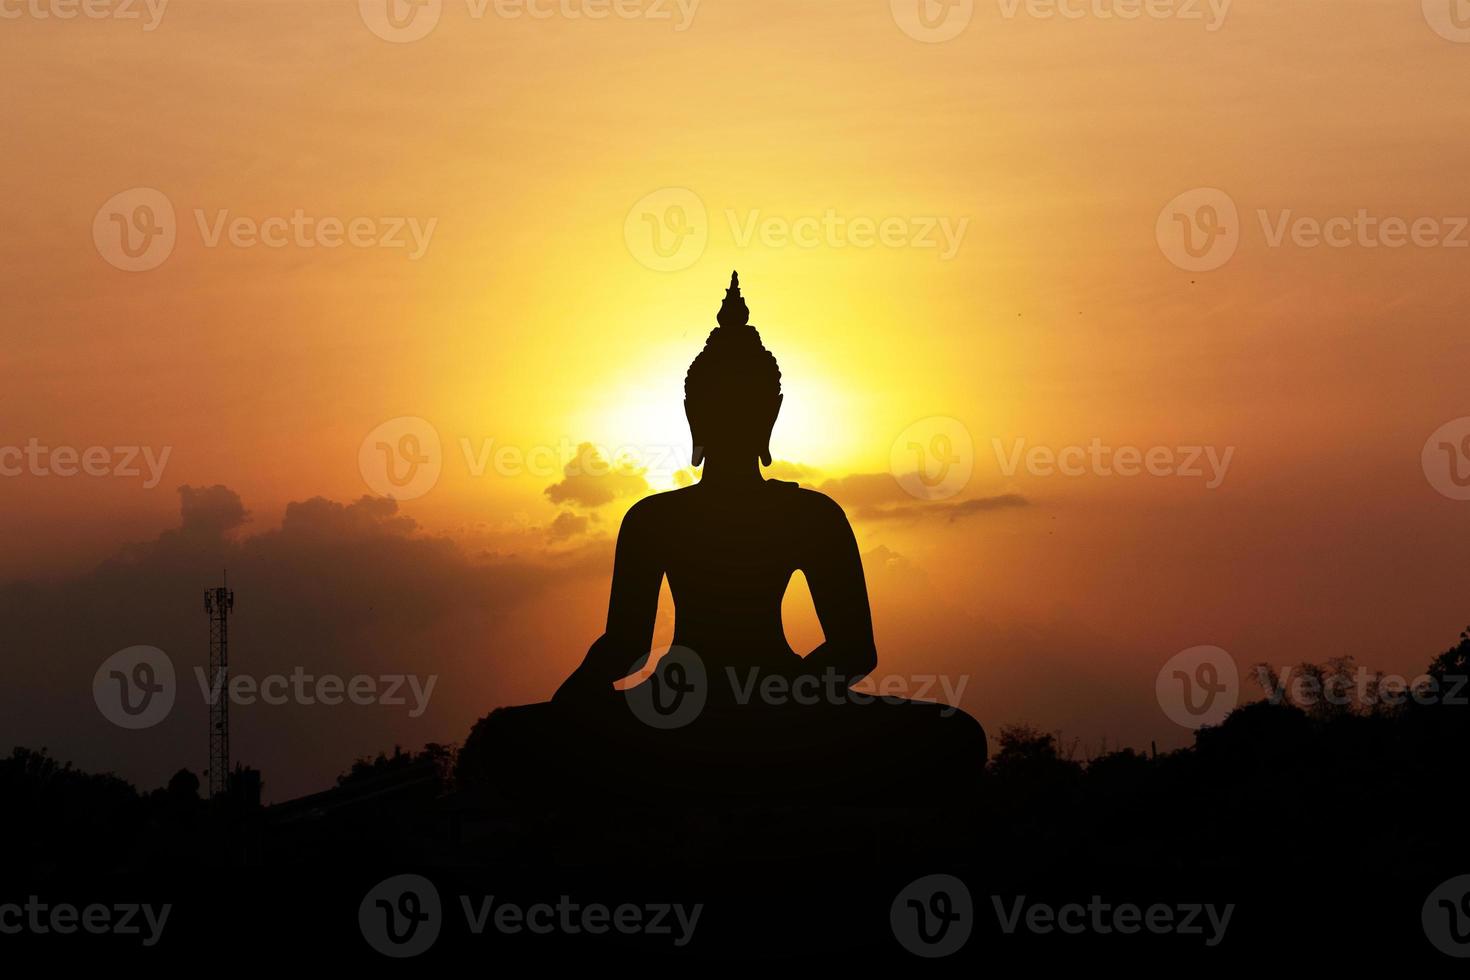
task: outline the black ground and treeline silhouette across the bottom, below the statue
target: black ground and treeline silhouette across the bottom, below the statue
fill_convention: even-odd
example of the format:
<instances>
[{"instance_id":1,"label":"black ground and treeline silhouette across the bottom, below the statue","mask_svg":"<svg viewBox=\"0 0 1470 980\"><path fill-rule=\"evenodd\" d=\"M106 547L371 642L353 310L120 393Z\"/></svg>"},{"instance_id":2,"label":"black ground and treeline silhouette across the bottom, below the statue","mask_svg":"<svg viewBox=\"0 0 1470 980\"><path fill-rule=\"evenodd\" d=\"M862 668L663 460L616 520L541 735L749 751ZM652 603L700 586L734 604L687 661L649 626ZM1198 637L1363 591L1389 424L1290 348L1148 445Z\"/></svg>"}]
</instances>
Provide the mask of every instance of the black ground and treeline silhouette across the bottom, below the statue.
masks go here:
<instances>
[{"instance_id":1,"label":"black ground and treeline silhouette across the bottom, below the statue","mask_svg":"<svg viewBox=\"0 0 1470 980\"><path fill-rule=\"evenodd\" d=\"M200 801L182 777L138 795L18 751L0 763L0 954L1463 973L1467 716L1255 702L1189 749L1088 764L1013 729L964 798L886 774L935 807L507 804L466 777L473 735L459 770L429 746L269 808ZM135 905L168 918L156 929Z\"/></svg>"}]
</instances>

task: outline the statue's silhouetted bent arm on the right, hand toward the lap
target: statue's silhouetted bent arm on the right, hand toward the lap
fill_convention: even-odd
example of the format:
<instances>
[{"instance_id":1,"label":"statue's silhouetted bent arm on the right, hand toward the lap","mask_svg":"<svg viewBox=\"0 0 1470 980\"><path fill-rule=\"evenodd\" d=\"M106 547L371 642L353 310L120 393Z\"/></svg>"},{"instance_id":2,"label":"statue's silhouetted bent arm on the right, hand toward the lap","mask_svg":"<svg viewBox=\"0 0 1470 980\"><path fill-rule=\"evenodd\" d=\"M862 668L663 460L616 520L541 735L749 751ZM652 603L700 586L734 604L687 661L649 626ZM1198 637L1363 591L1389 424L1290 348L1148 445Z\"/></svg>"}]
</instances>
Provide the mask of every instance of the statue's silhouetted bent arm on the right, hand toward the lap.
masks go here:
<instances>
[{"instance_id":1,"label":"statue's silhouetted bent arm on the right, hand toward the lap","mask_svg":"<svg viewBox=\"0 0 1470 980\"><path fill-rule=\"evenodd\" d=\"M817 511L801 567L826 642L803 658L801 673L832 674L851 686L878 666L867 582L847 514L826 497Z\"/></svg>"}]
</instances>

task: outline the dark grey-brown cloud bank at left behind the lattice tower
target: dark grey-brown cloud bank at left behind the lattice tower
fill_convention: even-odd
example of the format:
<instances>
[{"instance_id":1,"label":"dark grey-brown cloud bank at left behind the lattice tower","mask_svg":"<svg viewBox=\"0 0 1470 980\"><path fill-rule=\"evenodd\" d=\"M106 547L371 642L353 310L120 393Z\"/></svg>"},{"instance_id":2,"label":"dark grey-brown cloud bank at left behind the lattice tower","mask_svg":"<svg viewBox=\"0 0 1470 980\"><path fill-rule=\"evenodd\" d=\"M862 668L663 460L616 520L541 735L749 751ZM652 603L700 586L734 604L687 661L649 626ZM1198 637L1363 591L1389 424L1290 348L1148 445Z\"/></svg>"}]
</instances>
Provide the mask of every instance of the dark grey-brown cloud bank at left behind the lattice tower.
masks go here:
<instances>
[{"instance_id":1,"label":"dark grey-brown cloud bank at left behind the lattice tower","mask_svg":"<svg viewBox=\"0 0 1470 980\"><path fill-rule=\"evenodd\" d=\"M237 677L437 679L416 718L407 680L400 688L407 705L294 698L232 705L237 758L263 771L270 799L320 789L365 752L456 741L497 704L544 698L564 661L597 636L587 597L606 588L604 539L548 551L548 530L532 526L503 532L498 548L472 551L425 533L395 501L373 497L297 501L279 527L244 536L247 514L225 486L185 486L178 526L153 541L68 579L0 586L0 749L49 745L60 758L143 788L179 767L201 770L203 592L226 569L237 597ZM585 520L563 517L563 532ZM592 611L584 616L584 605ZM160 724L123 730L94 702L93 677L134 645L168 654L178 693ZM547 663L548 649L559 658Z\"/></svg>"}]
</instances>

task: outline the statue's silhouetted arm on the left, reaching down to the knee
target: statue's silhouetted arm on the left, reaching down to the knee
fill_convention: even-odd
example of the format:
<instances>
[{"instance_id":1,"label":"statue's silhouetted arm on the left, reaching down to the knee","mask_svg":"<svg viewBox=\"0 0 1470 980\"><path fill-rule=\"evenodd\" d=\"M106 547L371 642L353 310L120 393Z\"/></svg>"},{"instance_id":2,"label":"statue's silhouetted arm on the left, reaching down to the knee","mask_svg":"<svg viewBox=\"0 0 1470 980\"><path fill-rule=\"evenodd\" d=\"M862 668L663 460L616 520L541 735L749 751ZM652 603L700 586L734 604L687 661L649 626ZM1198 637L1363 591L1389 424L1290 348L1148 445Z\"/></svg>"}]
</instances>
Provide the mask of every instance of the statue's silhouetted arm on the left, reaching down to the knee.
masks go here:
<instances>
[{"instance_id":1,"label":"statue's silhouetted arm on the left, reaching down to the knee","mask_svg":"<svg viewBox=\"0 0 1470 980\"><path fill-rule=\"evenodd\" d=\"M659 616L663 567L653 550L654 538L644 502L628 511L617 532L607 629L587 651L582 664L557 689L557 701L582 692L607 692L613 682L635 671L648 657Z\"/></svg>"}]
</instances>

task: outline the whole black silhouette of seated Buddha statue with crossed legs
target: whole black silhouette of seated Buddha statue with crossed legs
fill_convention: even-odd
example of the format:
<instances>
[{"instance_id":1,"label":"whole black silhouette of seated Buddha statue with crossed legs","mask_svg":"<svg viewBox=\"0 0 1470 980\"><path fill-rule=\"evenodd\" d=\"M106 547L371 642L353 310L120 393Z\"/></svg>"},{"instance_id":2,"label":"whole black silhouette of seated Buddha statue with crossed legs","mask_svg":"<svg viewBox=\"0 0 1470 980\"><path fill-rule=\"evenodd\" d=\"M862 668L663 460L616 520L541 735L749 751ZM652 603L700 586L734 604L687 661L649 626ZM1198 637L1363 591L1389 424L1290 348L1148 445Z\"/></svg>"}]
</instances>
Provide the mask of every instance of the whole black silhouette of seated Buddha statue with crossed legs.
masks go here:
<instances>
[{"instance_id":1,"label":"whole black silhouette of seated Buddha statue with crossed legs","mask_svg":"<svg viewBox=\"0 0 1470 980\"><path fill-rule=\"evenodd\" d=\"M597 783L637 798L657 788L851 801L872 798L875 768L966 782L986 755L970 716L853 689L878 666L857 541L832 498L761 475L781 369L750 323L738 275L717 322L685 378L698 482L645 497L623 517L607 627L551 704L495 711L466 749L495 745L497 783L516 771L522 789ZM781 619L798 569L825 638L806 657ZM650 657L664 577L670 654L642 685L617 691ZM691 696L694 710L685 704L681 717L670 695Z\"/></svg>"}]
</instances>

